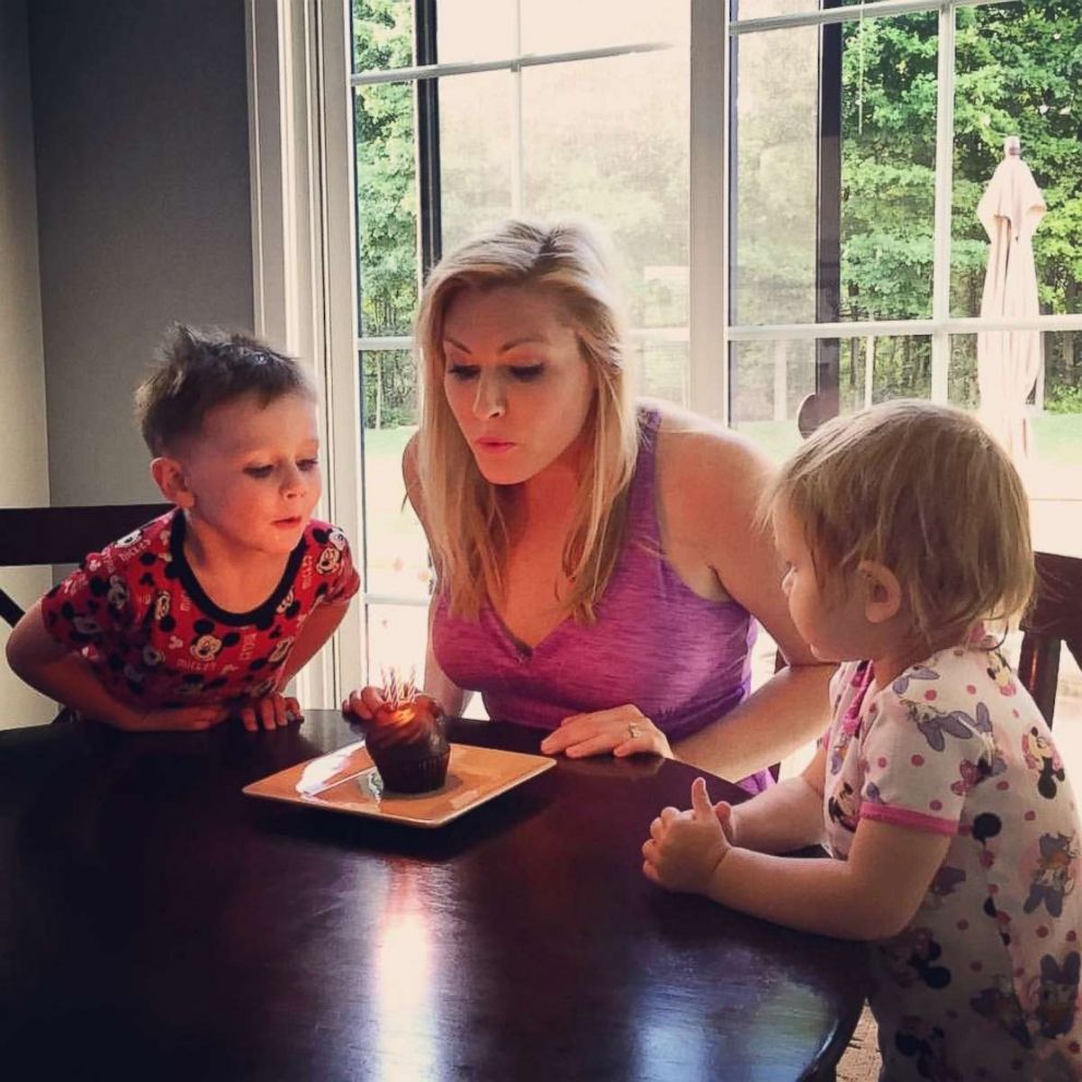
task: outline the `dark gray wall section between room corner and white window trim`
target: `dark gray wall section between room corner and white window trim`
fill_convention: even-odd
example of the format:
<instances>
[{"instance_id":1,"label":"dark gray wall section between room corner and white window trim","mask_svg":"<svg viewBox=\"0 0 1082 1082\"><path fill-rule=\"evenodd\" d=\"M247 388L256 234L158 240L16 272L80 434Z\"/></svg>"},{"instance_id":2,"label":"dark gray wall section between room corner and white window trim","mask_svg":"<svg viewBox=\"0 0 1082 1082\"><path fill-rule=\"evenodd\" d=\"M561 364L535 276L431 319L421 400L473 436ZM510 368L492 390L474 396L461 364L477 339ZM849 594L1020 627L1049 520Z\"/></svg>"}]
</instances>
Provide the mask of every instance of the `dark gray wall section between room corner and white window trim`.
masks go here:
<instances>
[{"instance_id":1,"label":"dark gray wall section between room corner and white window trim","mask_svg":"<svg viewBox=\"0 0 1082 1082\"><path fill-rule=\"evenodd\" d=\"M55 504L157 495L132 390L177 320L250 328L242 0L29 0Z\"/></svg>"}]
</instances>

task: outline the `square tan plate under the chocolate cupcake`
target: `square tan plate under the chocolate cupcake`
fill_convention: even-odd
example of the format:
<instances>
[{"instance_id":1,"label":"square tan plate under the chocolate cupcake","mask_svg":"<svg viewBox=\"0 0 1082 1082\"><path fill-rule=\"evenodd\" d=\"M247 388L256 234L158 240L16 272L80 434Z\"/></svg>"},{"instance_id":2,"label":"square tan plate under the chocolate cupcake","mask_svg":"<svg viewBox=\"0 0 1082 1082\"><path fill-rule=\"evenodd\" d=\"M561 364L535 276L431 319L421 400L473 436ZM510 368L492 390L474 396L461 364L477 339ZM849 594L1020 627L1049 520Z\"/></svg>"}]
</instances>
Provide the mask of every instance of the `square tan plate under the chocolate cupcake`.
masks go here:
<instances>
[{"instance_id":1,"label":"square tan plate under the chocolate cupcake","mask_svg":"<svg viewBox=\"0 0 1082 1082\"><path fill-rule=\"evenodd\" d=\"M364 742L359 741L252 782L243 792L410 827L442 827L555 765L556 760L545 755L452 744L447 780L441 789L392 793L383 791L378 771Z\"/></svg>"}]
</instances>

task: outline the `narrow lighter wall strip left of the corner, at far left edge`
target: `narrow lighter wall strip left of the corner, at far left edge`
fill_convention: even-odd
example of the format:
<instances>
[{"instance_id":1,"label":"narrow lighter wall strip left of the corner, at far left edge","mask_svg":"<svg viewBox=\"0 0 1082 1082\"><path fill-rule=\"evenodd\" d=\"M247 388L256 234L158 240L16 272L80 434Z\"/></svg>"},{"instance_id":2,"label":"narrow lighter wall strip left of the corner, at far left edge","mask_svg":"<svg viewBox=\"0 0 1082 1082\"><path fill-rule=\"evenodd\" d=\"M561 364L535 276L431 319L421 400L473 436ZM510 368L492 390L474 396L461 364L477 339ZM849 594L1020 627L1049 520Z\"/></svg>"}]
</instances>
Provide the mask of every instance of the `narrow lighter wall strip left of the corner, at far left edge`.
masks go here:
<instances>
[{"instance_id":1,"label":"narrow lighter wall strip left of the corner, at far left edge","mask_svg":"<svg viewBox=\"0 0 1082 1082\"><path fill-rule=\"evenodd\" d=\"M45 357L25 0L0 0L0 506L49 502ZM40 567L0 568L0 589L29 604ZM0 658L8 625L0 621ZM55 708L0 660L0 726L47 721Z\"/></svg>"}]
</instances>

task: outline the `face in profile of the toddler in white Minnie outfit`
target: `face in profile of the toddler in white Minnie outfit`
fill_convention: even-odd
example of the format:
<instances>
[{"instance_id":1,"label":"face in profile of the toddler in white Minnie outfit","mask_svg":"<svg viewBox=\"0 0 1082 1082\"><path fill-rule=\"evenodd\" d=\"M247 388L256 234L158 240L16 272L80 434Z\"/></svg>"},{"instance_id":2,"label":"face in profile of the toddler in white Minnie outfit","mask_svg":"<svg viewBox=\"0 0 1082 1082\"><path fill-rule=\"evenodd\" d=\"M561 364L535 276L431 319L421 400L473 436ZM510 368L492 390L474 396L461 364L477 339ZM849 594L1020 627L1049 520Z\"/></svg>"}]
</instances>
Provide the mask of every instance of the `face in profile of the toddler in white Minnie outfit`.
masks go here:
<instances>
[{"instance_id":1,"label":"face in profile of the toddler in white Minnie outfit","mask_svg":"<svg viewBox=\"0 0 1082 1082\"><path fill-rule=\"evenodd\" d=\"M782 592L801 637L820 661L854 661L875 657L877 629L865 611L865 582L847 576L843 590L827 594L819 585L803 524L779 503L773 512L774 543L785 562Z\"/></svg>"}]
</instances>

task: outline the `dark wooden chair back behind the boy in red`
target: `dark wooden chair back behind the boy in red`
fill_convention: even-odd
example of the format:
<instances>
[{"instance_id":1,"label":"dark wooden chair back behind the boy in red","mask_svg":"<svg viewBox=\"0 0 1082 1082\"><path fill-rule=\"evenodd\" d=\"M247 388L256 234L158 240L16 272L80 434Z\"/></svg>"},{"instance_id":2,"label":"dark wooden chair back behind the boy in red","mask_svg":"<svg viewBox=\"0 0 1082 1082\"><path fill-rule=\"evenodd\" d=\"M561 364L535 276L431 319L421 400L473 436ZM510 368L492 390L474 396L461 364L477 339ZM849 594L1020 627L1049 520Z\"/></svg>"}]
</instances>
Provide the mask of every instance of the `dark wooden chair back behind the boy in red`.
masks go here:
<instances>
[{"instance_id":1,"label":"dark wooden chair back behind the boy in red","mask_svg":"<svg viewBox=\"0 0 1082 1082\"><path fill-rule=\"evenodd\" d=\"M170 504L0 508L0 567L77 564L88 552L165 514ZM36 599L29 599L29 601ZM12 627L23 609L0 590L0 617Z\"/></svg>"}]
</instances>

